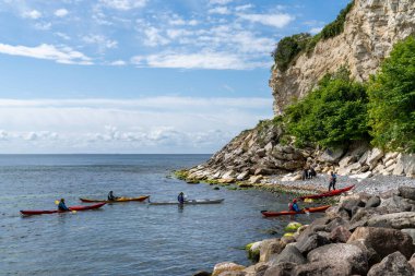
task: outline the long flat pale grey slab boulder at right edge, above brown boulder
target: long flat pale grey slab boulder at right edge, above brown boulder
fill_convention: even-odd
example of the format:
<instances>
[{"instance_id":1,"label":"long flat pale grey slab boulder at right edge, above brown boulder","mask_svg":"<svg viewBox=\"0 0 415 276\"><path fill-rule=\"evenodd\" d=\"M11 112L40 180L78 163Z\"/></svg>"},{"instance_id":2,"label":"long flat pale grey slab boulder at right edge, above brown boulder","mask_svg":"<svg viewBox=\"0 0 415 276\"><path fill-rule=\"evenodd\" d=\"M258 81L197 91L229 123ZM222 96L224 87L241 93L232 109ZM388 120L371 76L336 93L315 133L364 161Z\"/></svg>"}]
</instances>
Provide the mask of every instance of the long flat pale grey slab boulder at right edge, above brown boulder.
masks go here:
<instances>
[{"instance_id":1,"label":"long flat pale grey slab boulder at right edge, above brown boulder","mask_svg":"<svg viewBox=\"0 0 415 276\"><path fill-rule=\"evenodd\" d=\"M367 225L394 229L415 228L415 212L401 212L375 216L368 220Z\"/></svg>"}]
</instances>

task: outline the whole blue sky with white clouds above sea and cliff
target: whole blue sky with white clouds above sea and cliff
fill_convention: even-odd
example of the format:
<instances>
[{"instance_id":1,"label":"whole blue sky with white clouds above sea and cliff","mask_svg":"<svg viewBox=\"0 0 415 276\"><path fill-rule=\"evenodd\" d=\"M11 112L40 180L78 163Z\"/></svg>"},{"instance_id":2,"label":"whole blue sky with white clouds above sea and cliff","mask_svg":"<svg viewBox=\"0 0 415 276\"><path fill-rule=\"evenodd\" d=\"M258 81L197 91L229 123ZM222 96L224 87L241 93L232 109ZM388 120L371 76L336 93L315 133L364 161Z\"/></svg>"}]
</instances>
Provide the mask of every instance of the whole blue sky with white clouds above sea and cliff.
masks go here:
<instances>
[{"instance_id":1,"label":"whole blue sky with white clouds above sea and cliff","mask_svg":"<svg viewBox=\"0 0 415 276\"><path fill-rule=\"evenodd\" d=\"M0 0L0 154L214 153L348 0Z\"/></svg>"}]
</instances>

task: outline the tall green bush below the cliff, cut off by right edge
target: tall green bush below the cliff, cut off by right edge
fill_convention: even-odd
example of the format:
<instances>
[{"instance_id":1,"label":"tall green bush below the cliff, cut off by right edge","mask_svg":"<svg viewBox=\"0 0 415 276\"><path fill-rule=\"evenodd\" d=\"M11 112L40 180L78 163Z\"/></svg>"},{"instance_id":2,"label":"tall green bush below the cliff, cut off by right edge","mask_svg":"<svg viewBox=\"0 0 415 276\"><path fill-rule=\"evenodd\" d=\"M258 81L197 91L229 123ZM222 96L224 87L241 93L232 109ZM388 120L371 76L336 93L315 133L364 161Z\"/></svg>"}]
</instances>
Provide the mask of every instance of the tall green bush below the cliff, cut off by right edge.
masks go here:
<instances>
[{"instance_id":1,"label":"tall green bush below the cliff, cut off by right edge","mask_svg":"<svg viewBox=\"0 0 415 276\"><path fill-rule=\"evenodd\" d=\"M415 152L415 37L398 43L368 89L372 143Z\"/></svg>"}]
</instances>

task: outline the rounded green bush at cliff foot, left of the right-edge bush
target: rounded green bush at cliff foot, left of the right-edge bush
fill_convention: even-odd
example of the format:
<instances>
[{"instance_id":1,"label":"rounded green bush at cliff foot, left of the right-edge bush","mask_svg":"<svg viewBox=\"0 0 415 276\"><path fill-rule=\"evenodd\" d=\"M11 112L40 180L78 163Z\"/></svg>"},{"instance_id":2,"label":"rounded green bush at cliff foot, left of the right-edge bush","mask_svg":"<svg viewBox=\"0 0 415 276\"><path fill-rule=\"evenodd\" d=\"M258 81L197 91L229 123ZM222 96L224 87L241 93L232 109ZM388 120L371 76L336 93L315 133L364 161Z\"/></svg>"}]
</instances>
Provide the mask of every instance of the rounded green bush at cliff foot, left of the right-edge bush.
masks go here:
<instances>
[{"instance_id":1,"label":"rounded green bush at cliff foot, left of the right-edge bush","mask_svg":"<svg viewBox=\"0 0 415 276\"><path fill-rule=\"evenodd\" d=\"M298 146L307 142L339 146L368 139L366 86L348 75L344 68L325 75L316 89L287 107L287 132Z\"/></svg>"}]
</instances>

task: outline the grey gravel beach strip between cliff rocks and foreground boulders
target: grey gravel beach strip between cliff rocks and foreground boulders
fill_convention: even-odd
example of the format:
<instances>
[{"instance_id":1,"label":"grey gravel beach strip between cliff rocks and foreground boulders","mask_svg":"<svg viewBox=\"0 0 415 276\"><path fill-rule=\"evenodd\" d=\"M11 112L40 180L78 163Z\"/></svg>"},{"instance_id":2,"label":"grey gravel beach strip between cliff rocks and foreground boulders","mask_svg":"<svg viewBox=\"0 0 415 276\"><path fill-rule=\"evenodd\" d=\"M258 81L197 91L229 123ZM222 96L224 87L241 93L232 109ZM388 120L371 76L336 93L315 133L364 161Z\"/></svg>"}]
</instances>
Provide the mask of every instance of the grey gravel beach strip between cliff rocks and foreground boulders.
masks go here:
<instances>
[{"instance_id":1,"label":"grey gravel beach strip between cliff rocks and foreground boulders","mask_svg":"<svg viewBox=\"0 0 415 276\"><path fill-rule=\"evenodd\" d=\"M313 179L307 180L297 180L297 181L282 181L283 177L271 178L269 182L278 183L284 185L294 185L294 187L315 187L317 189L327 190L329 188L329 175L320 173L317 175ZM355 192L366 192L369 194L378 195L380 193L396 190L400 185L413 187L415 188L415 179L406 177L396 177L396 176L374 176L368 179L355 179L351 176L337 176L336 189L345 188L348 185L355 184Z\"/></svg>"}]
</instances>

